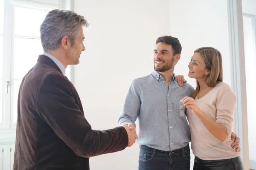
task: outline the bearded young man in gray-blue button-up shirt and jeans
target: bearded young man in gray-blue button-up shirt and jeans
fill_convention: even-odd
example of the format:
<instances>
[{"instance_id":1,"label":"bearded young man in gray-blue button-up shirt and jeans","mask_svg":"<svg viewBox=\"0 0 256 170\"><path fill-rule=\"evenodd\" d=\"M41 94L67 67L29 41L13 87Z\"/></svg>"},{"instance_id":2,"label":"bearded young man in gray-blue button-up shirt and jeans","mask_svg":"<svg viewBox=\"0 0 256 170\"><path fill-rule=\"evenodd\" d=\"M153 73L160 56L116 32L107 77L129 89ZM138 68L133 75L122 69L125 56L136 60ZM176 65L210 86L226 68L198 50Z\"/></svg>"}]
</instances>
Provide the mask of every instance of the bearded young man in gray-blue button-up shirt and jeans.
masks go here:
<instances>
[{"instance_id":1,"label":"bearded young man in gray-blue button-up shirt and jeans","mask_svg":"<svg viewBox=\"0 0 256 170\"><path fill-rule=\"evenodd\" d=\"M139 119L139 170L190 169L190 129L185 114L180 113L180 100L192 96L194 88L175 79L180 53L177 38L157 38L153 73L135 79L126 96L119 125L129 124L135 129ZM236 138L235 145L238 143Z\"/></svg>"}]
</instances>

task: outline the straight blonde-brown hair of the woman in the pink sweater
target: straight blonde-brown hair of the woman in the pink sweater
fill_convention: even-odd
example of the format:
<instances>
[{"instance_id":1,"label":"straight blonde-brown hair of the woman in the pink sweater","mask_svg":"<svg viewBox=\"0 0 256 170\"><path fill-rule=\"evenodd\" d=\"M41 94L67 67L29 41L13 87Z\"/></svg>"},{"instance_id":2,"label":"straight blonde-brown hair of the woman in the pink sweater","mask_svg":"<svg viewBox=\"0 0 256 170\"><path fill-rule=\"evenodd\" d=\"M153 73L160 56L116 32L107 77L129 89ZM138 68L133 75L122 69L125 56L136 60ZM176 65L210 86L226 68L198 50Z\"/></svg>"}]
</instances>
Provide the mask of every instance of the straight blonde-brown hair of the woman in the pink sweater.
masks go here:
<instances>
[{"instance_id":1,"label":"straight blonde-brown hair of the woman in the pink sweater","mask_svg":"<svg viewBox=\"0 0 256 170\"><path fill-rule=\"evenodd\" d=\"M204 59L205 68L210 71L210 74L206 77L206 84L209 87L215 87L218 82L223 81L223 71L222 71L222 58L221 53L212 47L201 47L194 51L194 53L199 53ZM199 82L196 81L196 89L192 95L193 99L198 95L200 90Z\"/></svg>"}]
</instances>

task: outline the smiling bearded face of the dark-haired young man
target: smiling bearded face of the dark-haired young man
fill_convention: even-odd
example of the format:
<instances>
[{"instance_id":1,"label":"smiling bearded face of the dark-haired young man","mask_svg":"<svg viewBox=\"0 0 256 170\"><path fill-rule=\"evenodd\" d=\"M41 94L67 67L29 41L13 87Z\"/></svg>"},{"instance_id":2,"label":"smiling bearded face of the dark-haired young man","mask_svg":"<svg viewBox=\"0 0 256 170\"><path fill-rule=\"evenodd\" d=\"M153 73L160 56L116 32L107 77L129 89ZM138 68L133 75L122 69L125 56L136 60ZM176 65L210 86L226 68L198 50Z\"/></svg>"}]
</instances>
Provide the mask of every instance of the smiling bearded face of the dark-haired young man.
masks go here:
<instances>
[{"instance_id":1,"label":"smiling bearded face of the dark-haired young man","mask_svg":"<svg viewBox=\"0 0 256 170\"><path fill-rule=\"evenodd\" d=\"M174 65L172 45L159 42L154 49L154 70L165 72L173 68Z\"/></svg>"}]
</instances>

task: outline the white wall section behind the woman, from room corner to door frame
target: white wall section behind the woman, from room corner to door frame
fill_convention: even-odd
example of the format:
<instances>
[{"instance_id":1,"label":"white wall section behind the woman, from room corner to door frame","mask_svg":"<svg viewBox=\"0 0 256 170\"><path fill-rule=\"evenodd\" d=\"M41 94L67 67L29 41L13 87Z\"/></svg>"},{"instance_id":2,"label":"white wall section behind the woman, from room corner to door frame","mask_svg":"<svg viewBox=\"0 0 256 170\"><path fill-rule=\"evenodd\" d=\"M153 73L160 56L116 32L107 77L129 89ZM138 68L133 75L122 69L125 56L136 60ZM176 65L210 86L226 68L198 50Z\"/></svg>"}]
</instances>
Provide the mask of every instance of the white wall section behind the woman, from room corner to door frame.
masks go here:
<instances>
[{"instance_id":1,"label":"white wall section behind the woman, from room corner to door frame","mask_svg":"<svg viewBox=\"0 0 256 170\"><path fill-rule=\"evenodd\" d=\"M195 87L195 79L187 76L187 65L195 49L210 46L221 52L224 82L231 85L226 0L170 0L170 30L182 45L181 58L175 66L176 74L185 75L188 83ZM191 169L193 160L191 154Z\"/></svg>"}]
</instances>

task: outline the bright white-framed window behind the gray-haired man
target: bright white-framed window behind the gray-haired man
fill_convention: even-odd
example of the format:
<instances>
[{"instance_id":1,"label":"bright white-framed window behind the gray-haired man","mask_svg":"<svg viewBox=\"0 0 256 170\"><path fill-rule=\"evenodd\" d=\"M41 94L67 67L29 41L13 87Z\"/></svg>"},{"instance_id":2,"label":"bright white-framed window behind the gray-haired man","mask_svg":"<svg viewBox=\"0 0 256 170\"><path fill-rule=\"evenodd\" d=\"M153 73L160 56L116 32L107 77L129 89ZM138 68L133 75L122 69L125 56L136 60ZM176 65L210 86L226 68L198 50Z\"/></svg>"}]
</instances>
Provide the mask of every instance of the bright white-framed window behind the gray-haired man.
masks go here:
<instances>
[{"instance_id":1,"label":"bright white-framed window behind the gray-haired man","mask_svg":"<svg viewBox=\"0 0 256 170\"><path fill-rule=\"evenodd\" d=\"M41 23L49 11L68 9L66 4L68 0L0 0L0 143L3 130L16 130L20 82L44 52ZM69 79L70 71L68 66Z\"/></svg>"}]
</instances>

